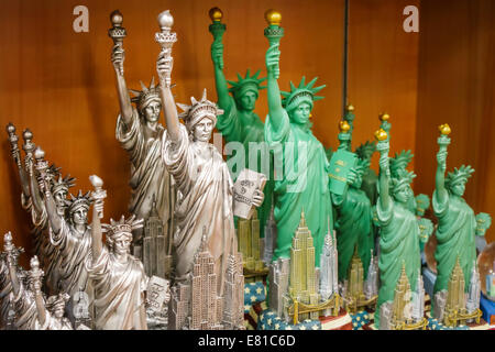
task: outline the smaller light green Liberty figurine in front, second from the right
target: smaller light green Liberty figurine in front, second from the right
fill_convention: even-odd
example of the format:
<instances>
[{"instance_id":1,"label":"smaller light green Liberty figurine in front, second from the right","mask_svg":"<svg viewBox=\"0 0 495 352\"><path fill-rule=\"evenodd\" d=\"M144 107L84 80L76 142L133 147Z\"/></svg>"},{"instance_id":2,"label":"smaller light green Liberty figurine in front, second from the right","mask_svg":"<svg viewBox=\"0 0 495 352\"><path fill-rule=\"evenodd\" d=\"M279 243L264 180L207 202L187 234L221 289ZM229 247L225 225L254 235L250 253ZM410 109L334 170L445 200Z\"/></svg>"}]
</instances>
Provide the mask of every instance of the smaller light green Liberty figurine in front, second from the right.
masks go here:
<instances>
[{"instance_id":1,"label":"smaller light green Liberty figurine in front, second from the right","mask_svg":"<svg viewBox=\"0 0 495 352\"><path fill-rule=\"evenodd\" d=\"M380 307L394 300L394 293L400 277L404 263L411 292L416 290L418 273L421 267L419 253L419 222L407 205L413 197L410 183L416 176L407 172L397 177L391 177L387 133L381 129L375 134L380 152L378 200L376 212L381 227L380 234ZM375 314L375 326L380 328L380 314Z\"/></svg>"}]
</instances>

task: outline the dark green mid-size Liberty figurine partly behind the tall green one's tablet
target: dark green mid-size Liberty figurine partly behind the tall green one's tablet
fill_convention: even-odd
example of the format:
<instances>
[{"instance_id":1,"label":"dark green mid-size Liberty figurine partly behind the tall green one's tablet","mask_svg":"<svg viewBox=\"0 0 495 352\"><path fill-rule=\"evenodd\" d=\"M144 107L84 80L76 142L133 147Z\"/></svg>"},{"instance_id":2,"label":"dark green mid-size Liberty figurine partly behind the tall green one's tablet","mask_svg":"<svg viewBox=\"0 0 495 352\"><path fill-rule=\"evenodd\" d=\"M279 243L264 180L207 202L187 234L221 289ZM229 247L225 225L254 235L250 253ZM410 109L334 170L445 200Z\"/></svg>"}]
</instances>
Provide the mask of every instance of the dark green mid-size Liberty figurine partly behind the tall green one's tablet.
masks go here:
<instances>
[{"instance_id":1,"label":"dark green mid-size Liberty figurine partly behind the tall green one's tablet","mask_svg":"<svg viewBox=\"0 0 495 352\"><path fill-rule=\"evenodd\" d=\"M350 124L346 120L340 123L339 148L349 151ZM348 141L346 141L348 140ZM358 246L358 254L363 263L364 278L370 267L371 253L374 251L372 223L372 205L364 190L361 189L363 174L370 167L367 160L358 160L358 165L348 174L349 187L342 196L331 194L337 210L336 231L337 251L339 253L339 282L348 278L349 264Z\"/></svg>"}]
</instances>

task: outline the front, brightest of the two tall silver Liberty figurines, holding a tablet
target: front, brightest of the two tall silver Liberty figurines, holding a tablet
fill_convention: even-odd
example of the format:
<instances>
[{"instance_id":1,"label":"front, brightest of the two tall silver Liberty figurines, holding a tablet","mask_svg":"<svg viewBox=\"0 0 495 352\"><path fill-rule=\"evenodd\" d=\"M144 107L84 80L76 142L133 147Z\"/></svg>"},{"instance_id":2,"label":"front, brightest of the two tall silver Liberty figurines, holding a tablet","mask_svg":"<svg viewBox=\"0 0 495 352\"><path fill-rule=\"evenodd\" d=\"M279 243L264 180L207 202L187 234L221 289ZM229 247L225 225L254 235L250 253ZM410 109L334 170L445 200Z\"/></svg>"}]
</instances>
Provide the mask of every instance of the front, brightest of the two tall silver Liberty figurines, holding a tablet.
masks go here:
<instances>
[{"instance_id":1,"label":"front, brightest of the two tall silver Liberty figurines, holding a tablet","mask_svg":"<svg viewBox=\"0 0 495 352\"><path fill-rule=\"evenodd\" d=\"M167 123L162 157L178 189L175 209L178 229L174 234L175 278L177 282L187 279L206 227L206 245L213 256L218 294L222 296L230 245L237 248L232 210L233 183L222 155L209 141L217 117L223 111L207 99L205 89L200 100L191 98L190 106L178 105L184 112L177 113L170 90L170 52L175 36L172 37L169 31L174 19L165 11L158 15L158 23L162 32L156 34L156 41L161 44L162 52L157 59L157 72ZM179 123L179 118L184 124ZM255 207L263 202L262 193L254 202Z\"/></svg>"}]
</instances>

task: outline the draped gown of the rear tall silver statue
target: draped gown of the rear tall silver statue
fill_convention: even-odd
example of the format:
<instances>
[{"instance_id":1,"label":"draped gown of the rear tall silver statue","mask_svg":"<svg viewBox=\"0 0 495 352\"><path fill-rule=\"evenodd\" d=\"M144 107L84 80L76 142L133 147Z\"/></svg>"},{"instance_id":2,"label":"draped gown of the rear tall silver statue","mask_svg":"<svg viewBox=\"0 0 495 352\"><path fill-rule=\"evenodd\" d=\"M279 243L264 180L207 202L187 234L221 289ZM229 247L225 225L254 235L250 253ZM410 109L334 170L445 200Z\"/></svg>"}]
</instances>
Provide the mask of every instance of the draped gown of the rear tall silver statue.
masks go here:
<instances>
[{"instance_id":1,"label":"draped gown of the rear tall silver statue","mask_svg":"<svg viewBox=\"0 0 495 352\"><path fill-rule=\"evenodd\" d=\"M133 107L132 121L129 125L123 122L121 116L117 120L116 138L131 158L129 185L132 188L132 195L129 211L138 219L147 219L154 195L164 229L168 229L170 178L162 162L162 143L166 132L162 125L158 125L157 138L146 141L142 119Z\"/></svg>"}]
</instances>

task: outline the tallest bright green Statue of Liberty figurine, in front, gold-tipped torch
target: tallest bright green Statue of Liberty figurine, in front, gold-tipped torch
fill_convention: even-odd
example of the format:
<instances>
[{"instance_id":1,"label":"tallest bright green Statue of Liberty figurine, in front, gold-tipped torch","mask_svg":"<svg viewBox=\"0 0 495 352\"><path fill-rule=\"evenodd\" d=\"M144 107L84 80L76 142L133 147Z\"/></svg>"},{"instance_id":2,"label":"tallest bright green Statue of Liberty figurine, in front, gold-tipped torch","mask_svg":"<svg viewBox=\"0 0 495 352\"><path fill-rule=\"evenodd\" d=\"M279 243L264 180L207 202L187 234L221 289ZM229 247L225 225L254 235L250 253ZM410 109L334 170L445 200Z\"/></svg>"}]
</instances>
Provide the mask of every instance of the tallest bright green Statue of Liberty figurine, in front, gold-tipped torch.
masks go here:
<instances>
[{"instance_id":1,"label":"tallest bright green Statue of Liberty figurine, in front, gold-tipped torch","mask_svg":"<svg viewBox=\"0 0 495 352\"><path fill-rule=\"evenodd\" d=\"M274 147L275 178L274 218L277 223L277 243L273 261L289 257L292 238L299 224L304 210L306 222L315 243L317 265L323 246L324 235L333 228L332 207L329 191L329 162L322 144L311 132L309 114L317 97L324 86L314 87L316 78L306 85L302 77L298 87L290 82L289 92L278 88L278 43L283 35L280 14L274 10L265 13L268 28L265 36L270 48L266 52L268 76L268 116L265 121L265 140ZM280 94L284 99L280 99ZM282 165L278 173L278 165ZM283 172L283 175L280 175Z\"/></svg>"}]
</instances>

